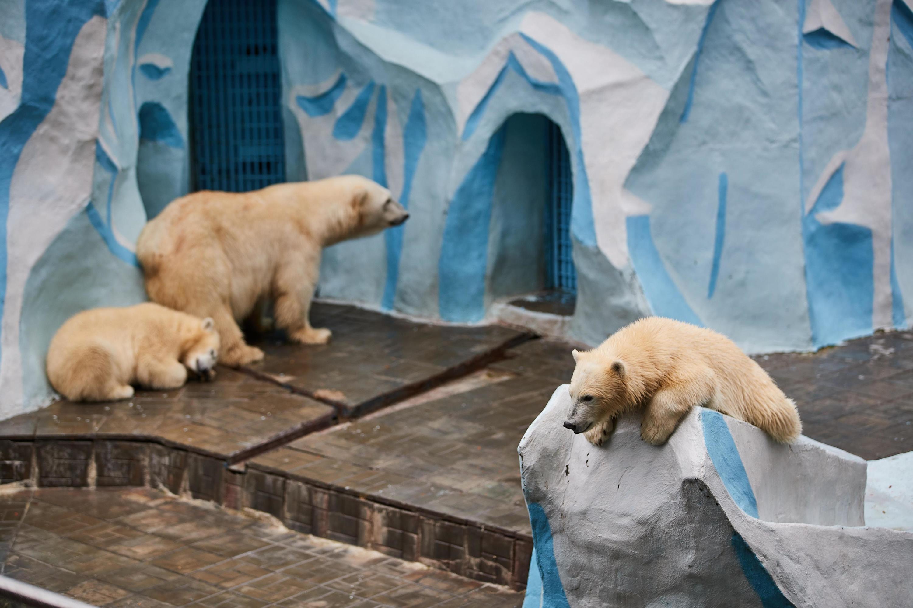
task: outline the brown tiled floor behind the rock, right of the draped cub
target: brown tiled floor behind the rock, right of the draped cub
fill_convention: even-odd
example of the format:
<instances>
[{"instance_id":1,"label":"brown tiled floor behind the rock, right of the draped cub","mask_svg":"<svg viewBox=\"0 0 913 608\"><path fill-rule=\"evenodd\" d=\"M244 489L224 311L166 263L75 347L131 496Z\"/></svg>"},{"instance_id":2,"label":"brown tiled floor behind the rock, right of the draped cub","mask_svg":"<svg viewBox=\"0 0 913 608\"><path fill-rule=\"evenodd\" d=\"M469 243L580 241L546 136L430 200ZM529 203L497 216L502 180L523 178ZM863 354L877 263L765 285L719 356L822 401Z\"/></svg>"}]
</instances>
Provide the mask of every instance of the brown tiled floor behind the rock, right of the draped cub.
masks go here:
<instances>
[{"instance_id":1,"label":"brown tiled floor behind the rock, right of the draped cub","mask_svg":"<svg viewBox=\"0 0 913 608\"><path fill-rule=\"evenodd\" d=\"M755 360L798 405L804 435L866 460L913 450L913 333Z\"/></svg>"}]
</instances>

